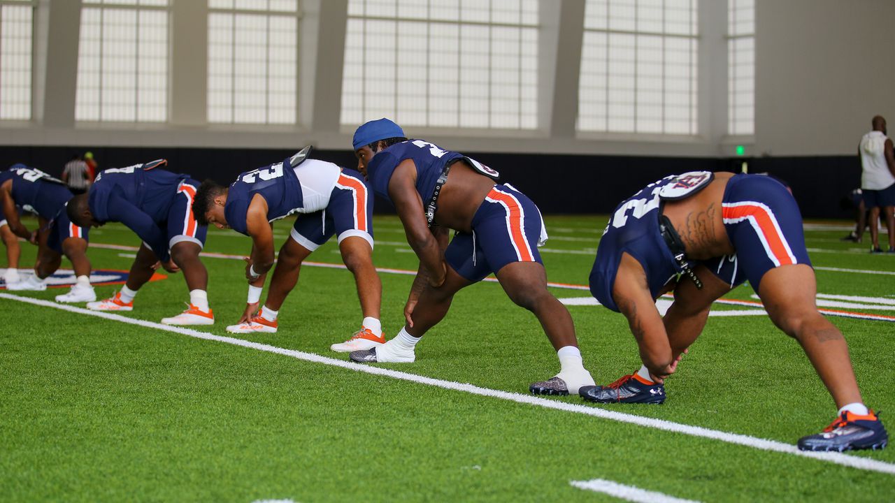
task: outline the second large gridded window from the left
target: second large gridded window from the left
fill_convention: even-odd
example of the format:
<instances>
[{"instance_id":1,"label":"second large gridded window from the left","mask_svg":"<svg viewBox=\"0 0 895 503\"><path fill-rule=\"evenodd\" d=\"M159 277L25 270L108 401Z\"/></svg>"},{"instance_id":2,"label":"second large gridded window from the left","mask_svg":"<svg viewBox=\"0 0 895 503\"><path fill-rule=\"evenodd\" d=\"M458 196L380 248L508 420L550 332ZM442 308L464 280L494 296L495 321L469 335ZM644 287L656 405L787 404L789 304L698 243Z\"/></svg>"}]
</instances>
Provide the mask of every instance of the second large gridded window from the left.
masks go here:
<instances>
[{"instance_id":1,"label":"second large gridded window from the left","mask_svg":"<svg viewBox=\"0 0 895 503\"><path fill-rule=\"evenodd\" d=\"M167 0L83 0L75 120L167 120Z\"/></svg>"}]
</instances>

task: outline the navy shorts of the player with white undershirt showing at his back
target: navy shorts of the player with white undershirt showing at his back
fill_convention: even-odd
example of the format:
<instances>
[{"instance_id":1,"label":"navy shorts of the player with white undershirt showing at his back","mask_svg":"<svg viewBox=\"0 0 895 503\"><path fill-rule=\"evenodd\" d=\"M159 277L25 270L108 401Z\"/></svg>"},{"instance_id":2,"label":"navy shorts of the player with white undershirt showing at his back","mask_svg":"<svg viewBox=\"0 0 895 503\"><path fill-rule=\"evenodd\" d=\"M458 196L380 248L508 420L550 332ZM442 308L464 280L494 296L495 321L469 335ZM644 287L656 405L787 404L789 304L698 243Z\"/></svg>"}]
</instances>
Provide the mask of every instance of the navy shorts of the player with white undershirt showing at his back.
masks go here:
<instances>
[{"instance_id":1,"label":"navy shorts of the player with white undershirt showing at his back","mask_svg":"<svg viewBox=\"0 0 895 503\"><path fill-rule=\"evenodd\" d=\"M289 234L295 243L311 252L326 243L333 234L338 236L339 243L346 237L362 237L372 248L373 200L370 194L370 187L363 175L353 169L345 169L338 176L327 208L300 214Z\"/></svg>"}]
</instances>

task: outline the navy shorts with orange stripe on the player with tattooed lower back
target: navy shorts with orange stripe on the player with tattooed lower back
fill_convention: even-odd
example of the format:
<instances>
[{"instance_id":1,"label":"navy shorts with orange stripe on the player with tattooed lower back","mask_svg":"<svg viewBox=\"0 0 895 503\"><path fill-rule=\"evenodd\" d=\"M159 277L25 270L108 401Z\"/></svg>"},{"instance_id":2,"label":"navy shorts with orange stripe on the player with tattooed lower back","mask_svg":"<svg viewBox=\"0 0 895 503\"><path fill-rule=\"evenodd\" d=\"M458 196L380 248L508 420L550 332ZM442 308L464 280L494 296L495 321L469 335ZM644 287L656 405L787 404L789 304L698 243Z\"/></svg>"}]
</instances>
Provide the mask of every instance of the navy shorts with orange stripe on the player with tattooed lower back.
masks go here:
<instances>
[{"instance_id":1,"label":"navy shorts with orange stripe on the player with tattooed lower back","mask_svg":"<svg viewBox=\"0 0 895 503\"><path fill-rule=\"evenodd\" d=\"M811 265L802 214L781 183L762 175L735 175L724 189L721 208L724 227L737 252L703 264L731 287L748 279L757 294L769 270Z\"/></svg>"}]
</instances>

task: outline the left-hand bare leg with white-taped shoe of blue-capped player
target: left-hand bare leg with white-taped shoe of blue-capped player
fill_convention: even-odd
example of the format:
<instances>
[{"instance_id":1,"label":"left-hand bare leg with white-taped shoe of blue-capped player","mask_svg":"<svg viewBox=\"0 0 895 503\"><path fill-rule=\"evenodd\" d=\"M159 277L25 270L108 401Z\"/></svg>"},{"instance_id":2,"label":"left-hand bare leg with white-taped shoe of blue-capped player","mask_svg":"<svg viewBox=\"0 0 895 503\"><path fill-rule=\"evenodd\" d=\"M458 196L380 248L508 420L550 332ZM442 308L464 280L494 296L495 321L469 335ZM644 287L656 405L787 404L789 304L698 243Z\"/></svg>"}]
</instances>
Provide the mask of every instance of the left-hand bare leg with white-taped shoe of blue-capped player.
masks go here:
<instances>
[{"instance_id":1,"label":"left-hand bare leg with white-taped shoe of blue-capped player","mask_svg":"<svg viewBox=\"0 0 895 503\"><path fill-rule=\"evenodd\" d=\"M414 286L422 284L420 297L410 313L410 322L401 328L397 336L383 345L366 351L354 351L351 359L355 362L413 362L416 355L413 351L416 343L430 328L444 320L454 295L465 286L473 283L456 273L446 264L445 281L438 288L422 282L420 277L414 280ZM421 283L422 282L422 283ZM406 316L406 313L405 313Z\"/></svg>"}]
</instances>

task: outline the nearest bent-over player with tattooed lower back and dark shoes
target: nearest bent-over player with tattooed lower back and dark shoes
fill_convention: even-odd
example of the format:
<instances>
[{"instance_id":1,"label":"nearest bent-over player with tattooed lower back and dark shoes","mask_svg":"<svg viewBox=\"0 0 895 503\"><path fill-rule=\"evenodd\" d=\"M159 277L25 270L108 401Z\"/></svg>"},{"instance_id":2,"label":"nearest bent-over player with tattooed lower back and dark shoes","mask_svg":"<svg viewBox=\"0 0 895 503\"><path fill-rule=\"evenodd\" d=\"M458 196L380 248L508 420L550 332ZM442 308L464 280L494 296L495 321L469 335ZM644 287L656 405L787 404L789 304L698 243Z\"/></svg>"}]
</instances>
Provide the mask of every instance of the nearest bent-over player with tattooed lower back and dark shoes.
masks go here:
<instances>
[{"instance_id":1,"label":"nearest bent-over player with tattooed lower back and dark shoes","mask_svg":"<svg viewBox=\"0 0 895 503\"><path fill-rule=\"evenodd\" d=\"M712 303L746 279L773 323L805 350L839 407L836 420L800 439L798 448L885 447L888 434L862 401L848 345L817 311L796 200L763 175L673 175L618 205L597 249L590 286L601 304L626 316L644 364L609 386L582 388L581 396L662 403L664 379L703 331ZM663 318L655 300L671 290L674 303Z\"/></svg>"}]
</instances>

